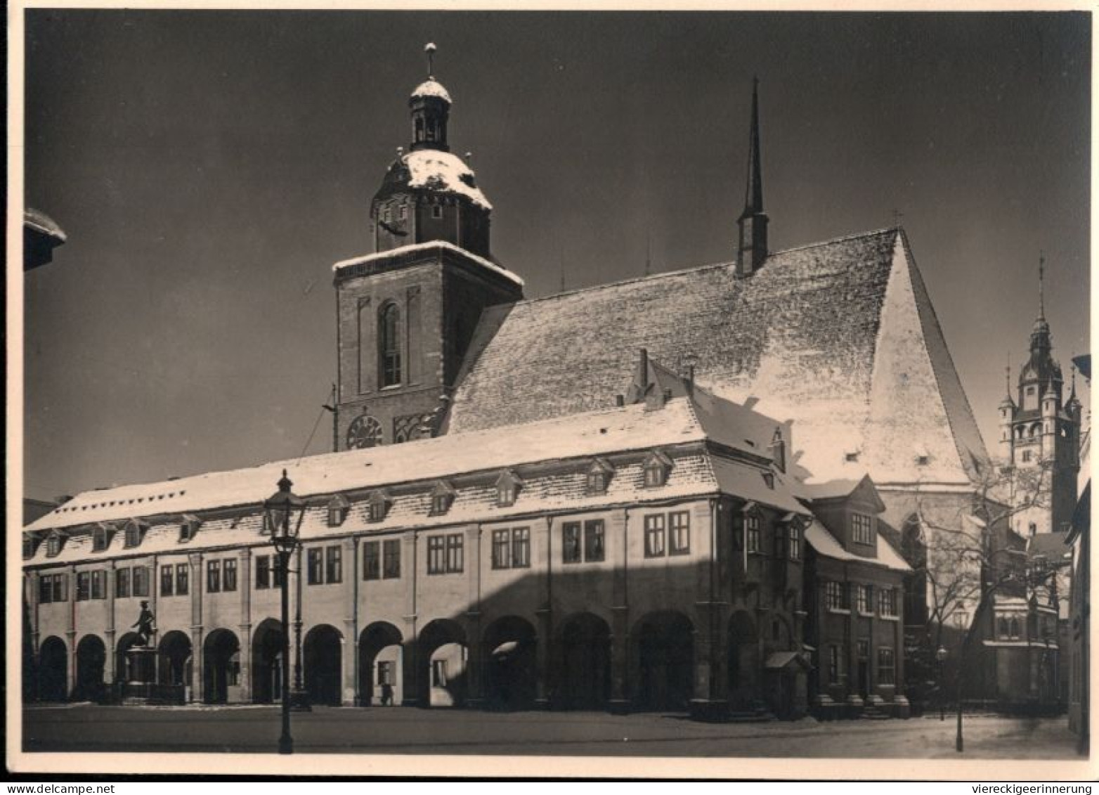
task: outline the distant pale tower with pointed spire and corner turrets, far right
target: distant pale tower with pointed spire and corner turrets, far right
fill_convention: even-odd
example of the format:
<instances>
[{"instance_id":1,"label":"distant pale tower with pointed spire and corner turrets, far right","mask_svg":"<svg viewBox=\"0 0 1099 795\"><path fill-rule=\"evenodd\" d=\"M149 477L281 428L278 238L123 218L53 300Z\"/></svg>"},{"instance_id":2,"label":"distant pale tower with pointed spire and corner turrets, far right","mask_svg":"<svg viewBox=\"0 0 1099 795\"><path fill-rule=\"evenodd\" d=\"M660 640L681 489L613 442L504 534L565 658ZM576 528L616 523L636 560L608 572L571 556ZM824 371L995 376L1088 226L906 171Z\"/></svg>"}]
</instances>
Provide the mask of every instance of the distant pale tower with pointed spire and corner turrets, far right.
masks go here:
<instances>
[{"instance_id":1,"label":"distant pale tower with pointed spire and corner turrets, far right","mask_svg":"<svg viewBox=\"0 0 1099 795\"><path fill-rule=\"evenodd\" d=\"M1061 365L1053 357L1045 319L1044 261L1039 264L1039 316L1030 357L1019 373L1017 398L1000 402L1000 453L1012 473L1012 529L1024 538L1063 532L1076 507L1079 471L1080 401L1076 376L1064 396Z\"/></svg>"}]
</instances>

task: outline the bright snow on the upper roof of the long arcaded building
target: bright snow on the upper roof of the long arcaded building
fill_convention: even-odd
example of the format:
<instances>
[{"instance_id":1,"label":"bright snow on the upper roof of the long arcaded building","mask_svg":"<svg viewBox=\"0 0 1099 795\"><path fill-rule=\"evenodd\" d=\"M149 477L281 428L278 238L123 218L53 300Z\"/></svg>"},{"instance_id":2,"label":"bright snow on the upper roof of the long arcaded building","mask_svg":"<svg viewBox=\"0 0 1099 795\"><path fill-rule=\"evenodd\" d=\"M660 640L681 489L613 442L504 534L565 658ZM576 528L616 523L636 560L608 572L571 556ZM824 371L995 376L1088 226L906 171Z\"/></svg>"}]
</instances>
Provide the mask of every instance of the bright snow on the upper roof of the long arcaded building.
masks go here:
<instances>
[{"instance_id":1,"label":"bright snow on the upper roof of the long arcaded building","mask_svg":"<svg viewBox=\"0 0 1099 795\"><path fill-rule=\"evenodd\" d=\"M282 470L302 497L378 488L399 483L430 482L508 466L585 459L623 451L644 451L701 442L726 441L744 431L728 423L699 421L687 398L670 400L663 409L646 411L644 404L555 418L498 430L446 434L407 444L313 455L278 461L244 470L213 472L174 481L135 484L84 492L27 526L29 531L124 521L133 517L179 515L233 506L258 506L275 490ZM731 475L729 467L758 472L759 467L730 463L722 478L701 466L680 478L673 496L714 493ZM747 477L744 475L743 477ZM766 494L763 481L756 497L769 505L797 506L781 478ZM662 493L662 497L669 496ZM769 496L769 499L768 499ZM453 520L454 517L449 516Z\"/></svg>"}]
</instances>

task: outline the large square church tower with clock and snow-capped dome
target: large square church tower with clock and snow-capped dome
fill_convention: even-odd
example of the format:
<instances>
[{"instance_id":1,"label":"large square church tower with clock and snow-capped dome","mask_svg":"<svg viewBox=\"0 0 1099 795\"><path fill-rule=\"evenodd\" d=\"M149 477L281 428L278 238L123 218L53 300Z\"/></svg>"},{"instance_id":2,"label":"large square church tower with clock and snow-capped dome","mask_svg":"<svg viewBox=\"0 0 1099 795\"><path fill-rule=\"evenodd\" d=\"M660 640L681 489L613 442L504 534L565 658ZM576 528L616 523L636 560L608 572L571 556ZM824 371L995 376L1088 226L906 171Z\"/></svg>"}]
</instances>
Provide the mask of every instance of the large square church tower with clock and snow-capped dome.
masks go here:
<instances>
[{"instance_id":1,"label":"large square church tower with clock and snow-capped dome","mask_svg":"<svg viewBox=\"0 0 1099 795\"><path fill-rule=\"evenodd\" d=\"M338 262L336 444L432 435L485 308L523 297L489 250L492 206L449 152L449 92L433 76L409 98L412 141L370 202L375 254Z\"/></svg>"}]
</instances>

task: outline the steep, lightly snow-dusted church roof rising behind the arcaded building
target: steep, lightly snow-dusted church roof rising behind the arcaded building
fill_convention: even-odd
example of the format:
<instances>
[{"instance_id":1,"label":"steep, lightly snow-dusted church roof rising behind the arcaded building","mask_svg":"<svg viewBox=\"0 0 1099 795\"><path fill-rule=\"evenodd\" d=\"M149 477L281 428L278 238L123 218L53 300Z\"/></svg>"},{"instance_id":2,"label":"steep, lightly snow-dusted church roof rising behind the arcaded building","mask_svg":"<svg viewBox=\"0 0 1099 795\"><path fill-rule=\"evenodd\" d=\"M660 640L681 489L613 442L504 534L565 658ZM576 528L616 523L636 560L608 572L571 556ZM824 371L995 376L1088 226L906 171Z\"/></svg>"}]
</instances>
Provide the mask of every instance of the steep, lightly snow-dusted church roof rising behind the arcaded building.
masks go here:
<instances>
[{"instance_id":1,"label":"steep, lightly snow-dusted church roof rising behind the arcaded building","mask_svg":"<svg viewBox=\"0 0 1099 795\"><path fill-rule=\"evenodd\" d=\"M448 431L608 406L640 346L792 420L818 478L964 486L988 460L899 229L773 253L746 278L711 265L492 308Z\"/></svg>"}]
</instances>

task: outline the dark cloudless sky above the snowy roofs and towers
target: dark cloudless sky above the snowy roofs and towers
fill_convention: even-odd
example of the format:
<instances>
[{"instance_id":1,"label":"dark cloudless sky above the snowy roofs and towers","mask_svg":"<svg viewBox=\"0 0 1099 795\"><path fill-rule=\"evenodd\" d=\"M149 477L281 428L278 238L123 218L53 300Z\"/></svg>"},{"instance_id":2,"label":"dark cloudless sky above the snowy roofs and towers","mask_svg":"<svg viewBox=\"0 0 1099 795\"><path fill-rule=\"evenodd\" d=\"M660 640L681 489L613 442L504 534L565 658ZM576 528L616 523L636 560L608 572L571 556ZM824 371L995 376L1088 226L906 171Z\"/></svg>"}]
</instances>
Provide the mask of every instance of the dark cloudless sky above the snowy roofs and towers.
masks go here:
<instances>
[{"instance_id":1,"label":"dark cloudless sky above the snowy roofs and towers","mask_svg":"<svg viewBox=\"0 0 1099 795\"><path fill-rule=\"evenodd\" d=\"M752 76L771 247L909 233L986 444L1047 261L1088 350L1085 14L27 12L25 490L298 455L423 45L531 297L734 256ZM592 333L598 333L593 319ZM309 444L331 443L325 416Z\"/></svg>"}]
</instances>

